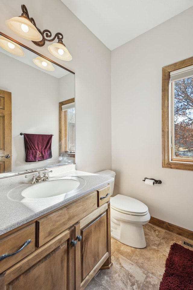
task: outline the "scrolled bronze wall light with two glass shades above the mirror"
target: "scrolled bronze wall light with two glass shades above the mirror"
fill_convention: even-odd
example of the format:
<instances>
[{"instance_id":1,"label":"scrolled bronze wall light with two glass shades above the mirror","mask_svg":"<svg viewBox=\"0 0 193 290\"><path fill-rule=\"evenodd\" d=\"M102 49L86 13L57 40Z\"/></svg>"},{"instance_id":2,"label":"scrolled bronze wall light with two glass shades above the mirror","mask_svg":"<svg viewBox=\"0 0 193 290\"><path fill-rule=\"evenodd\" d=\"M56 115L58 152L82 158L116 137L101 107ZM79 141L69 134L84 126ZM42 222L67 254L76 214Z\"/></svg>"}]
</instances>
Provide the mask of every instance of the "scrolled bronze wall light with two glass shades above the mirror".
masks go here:
<instances>
[{"instance_id":1,"label":"scrolled bronze wall light with two glass shades above the mirror","mask_svg":"<svg viewBox=\"0 0 193 290\"><path fill-rule=\"evenodd\" d=\"M19 36L31 40L35 45L39 47L44 46L46 41L54 41L57 37L58 42L49 45L49 52L60 60L72 60L71 54L69 53L68 49L65 47L65 44L62 41L62 33L57 32L52 39L49 39L52 37L51 31L45 29L42 32L39 28L36 27L34 19L29 17L27 8L24 4L21 5L21 9L23 12L21 16L13 17L5 21L7 26Z\"/></svg>"}]
</instances>

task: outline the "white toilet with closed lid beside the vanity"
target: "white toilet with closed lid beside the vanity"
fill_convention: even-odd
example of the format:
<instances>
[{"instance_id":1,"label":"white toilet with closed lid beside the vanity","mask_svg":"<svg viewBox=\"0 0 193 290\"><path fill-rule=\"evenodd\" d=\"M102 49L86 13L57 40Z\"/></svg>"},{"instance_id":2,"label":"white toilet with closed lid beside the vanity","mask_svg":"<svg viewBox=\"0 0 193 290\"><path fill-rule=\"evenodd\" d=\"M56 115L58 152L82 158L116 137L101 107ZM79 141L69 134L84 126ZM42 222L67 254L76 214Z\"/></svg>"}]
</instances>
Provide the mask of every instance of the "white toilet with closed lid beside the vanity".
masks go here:
<instances>
[{"instance_id":1,"label":"white toilet with closed lid beside the vanity","mask_svg":"<svg viewBox=\"0 0 193 290\"><path fill-rule=\"evenodd\" d=\"M113 177L115 172L103 170L95 174ZM110 182L110 196L112 196L114 181ZM143 225L150 220L147 205L125 195L115 195L110 198L111 236L125 245L134 248L145 248L146 241Z\"/></svg>"}]
</instances>

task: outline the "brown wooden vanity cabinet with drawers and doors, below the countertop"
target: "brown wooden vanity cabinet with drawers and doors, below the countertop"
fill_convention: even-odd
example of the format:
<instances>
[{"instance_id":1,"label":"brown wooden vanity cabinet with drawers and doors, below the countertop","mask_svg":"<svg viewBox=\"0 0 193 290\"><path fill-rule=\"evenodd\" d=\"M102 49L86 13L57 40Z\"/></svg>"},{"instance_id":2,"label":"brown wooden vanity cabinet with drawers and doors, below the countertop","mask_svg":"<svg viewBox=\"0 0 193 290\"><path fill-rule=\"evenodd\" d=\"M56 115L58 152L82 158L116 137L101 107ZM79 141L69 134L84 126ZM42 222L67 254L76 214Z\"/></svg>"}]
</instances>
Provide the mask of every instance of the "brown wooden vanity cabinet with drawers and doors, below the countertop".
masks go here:
<instances>
[{"instance_id":1,"label":"brown wooden vanity cabinet with drawers and doors, below the countertop","mask_svg":"<svg viewBox=\"0 0 193 290\"><path fill-rule=\"evenodd\" d=\"M109 185L0 236L0 290L83 290L109 269ZM104 197L104 198L101 198Z\"/></svg>"}]
</instances>

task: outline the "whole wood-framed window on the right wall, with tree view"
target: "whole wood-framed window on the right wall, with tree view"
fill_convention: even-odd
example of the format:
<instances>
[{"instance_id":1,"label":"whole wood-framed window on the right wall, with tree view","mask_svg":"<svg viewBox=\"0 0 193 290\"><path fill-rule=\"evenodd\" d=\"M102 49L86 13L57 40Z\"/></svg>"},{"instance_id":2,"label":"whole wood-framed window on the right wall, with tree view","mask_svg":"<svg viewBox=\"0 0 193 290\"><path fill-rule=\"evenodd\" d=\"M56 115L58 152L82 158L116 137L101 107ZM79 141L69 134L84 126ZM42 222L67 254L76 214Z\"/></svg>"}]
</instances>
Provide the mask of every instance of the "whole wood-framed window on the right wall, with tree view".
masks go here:
<instances>
[{"instance_id":1,"label":"whole wood-framed window on the right wall, with tree view","mask_svg":"<svg viewBox=\"0 0 193 290\"><path fill-rule=\"evenodd\" d=\"M162 167L193 170L193 57L162 69Z\"/></svg>"}]
</instances>

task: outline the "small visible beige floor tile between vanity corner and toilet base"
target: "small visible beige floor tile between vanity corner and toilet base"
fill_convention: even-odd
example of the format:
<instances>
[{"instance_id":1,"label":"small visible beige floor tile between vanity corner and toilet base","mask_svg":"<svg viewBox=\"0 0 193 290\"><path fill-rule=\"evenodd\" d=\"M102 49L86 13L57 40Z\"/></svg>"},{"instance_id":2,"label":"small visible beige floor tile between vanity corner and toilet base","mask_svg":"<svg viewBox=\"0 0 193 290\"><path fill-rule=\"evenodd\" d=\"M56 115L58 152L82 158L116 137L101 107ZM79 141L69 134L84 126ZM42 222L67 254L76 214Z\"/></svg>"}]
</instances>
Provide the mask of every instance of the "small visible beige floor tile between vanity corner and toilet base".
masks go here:
<instances>
[{"instance_id":1,"label":"small visible beige floor tile between vanity corner and toilet base","mask_svg":"<svg viewBox=\"0 0 193 290\"><path fill-rule=\"evenodd\" d=\"M111 248L129 260L131 260L132 256L136 251L136 248L129 247L119 242L118 240L115 240L112 237L111 237Z\"/></svg>"}]
</instances>

